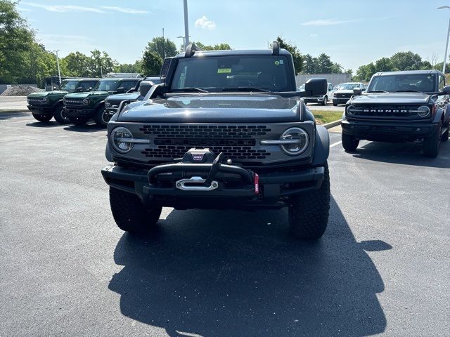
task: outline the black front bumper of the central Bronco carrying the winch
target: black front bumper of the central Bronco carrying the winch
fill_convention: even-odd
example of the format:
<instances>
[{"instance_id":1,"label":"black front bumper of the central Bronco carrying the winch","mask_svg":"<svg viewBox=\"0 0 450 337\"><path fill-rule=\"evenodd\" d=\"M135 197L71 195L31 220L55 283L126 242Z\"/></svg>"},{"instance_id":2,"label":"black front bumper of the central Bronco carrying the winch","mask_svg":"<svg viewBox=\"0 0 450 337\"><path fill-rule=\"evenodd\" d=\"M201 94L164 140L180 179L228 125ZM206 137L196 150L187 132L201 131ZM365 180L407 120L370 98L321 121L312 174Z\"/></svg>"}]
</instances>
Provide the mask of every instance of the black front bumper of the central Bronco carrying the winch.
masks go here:
<instances>
[{"instance_id":1,"label":"black front bumper of the central Bronco carrying the winch","mask_svg":"<svg viewBox=\"0 0 450 337\"><path fill-rule=\"evenodd\" d=\"M240 166L222 165L214 175L218 186L214 190L181 190L176 182L182 178L206 178L211 164L168 164L150 171L106 166L102 171L105 182L140 199L160 206L177 209L240 209L281 208L287 206L286 197L321 187L325 168L308 167L296 171L262 173L255 184L255 175ZM256 187L257 185L257 187Z\"/></svg>"}]
</instances>

